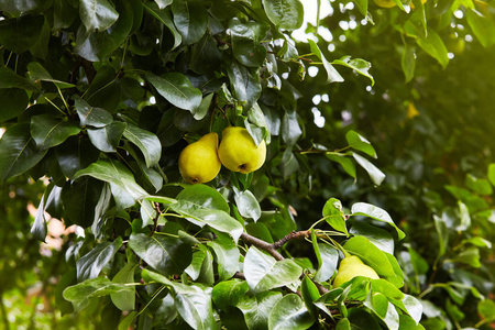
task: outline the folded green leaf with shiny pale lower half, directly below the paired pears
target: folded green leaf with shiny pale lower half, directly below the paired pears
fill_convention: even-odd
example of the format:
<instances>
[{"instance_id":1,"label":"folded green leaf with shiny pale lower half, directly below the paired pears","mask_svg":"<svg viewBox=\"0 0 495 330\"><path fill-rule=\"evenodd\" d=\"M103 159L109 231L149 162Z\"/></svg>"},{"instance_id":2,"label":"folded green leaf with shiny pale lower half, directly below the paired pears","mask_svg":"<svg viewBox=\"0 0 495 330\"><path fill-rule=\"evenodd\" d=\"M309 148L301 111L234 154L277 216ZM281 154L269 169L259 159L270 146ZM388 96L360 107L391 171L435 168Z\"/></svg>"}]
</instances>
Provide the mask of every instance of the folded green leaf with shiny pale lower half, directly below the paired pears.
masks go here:
<instances>
[{"instance_id":1,"label":"folded green leaf with shiny pale lower half, directly below the paired pears","mask_svg":"<svg viewBox=\"0 0 495 330\"><path fill-rule=\"evenodd\" d=\"M189 186L176 199L177 204L170 206L174 211L190 217L200 224L230 233L234 241L239 240L244 230L238 220L229 216L229 205L223 197L211 187Z\"/></svg>"}]
</instances>

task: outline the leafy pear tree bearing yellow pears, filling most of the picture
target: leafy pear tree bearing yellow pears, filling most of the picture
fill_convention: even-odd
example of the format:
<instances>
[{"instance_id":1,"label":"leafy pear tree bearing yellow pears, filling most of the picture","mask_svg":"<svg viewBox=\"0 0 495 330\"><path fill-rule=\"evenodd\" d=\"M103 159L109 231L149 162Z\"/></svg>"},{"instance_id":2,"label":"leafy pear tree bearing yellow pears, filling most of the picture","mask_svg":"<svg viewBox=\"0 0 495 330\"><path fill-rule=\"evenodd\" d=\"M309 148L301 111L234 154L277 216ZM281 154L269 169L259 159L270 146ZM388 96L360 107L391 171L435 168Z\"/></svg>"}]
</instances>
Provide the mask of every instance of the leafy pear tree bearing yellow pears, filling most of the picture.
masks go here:
<instances>
[{"instance_id":1,"label":"leafy pear tree bearing yellow pears, filling most of the picture","mask_svg":"<svg viewBox=\"0 0 495 330\"><path fill-rule=\"evenodd\" d=\"M495 44L493 3L315 1L311 12L302 2L0 0L0 184L21 197L16 187L38 189L28 199L36 201L30 239L50 242L55 222L68 230L43 282L59 318L75 320L61 327L397 330L495 320L493 283L479 285L493 282L490 273L453 274L490 251L468 229L479 219L477 232L493 234L495 165L486 178L469 176L471 195L450 185L455 208L425 184L418 199L435 211L427 231L440 246L429 266L410 239L415 224L374 197L395 175L384 183L377 160L386 132L343 122L317 130L318 109L306 107L331 94L373 113L351 92L386 80L366 52L328 33L352 43L373 25L391 40L373 43L400 52L393 81L420 82L419 58L448 67L444 29L459 12L463 33ZM353 24L362 29L342 28ZM458 256L447 251L449 232ZM436 290L449 295L440 306L428 300ZM3 320L15 329L4 311Z\"/></svg>"}]
</instances>

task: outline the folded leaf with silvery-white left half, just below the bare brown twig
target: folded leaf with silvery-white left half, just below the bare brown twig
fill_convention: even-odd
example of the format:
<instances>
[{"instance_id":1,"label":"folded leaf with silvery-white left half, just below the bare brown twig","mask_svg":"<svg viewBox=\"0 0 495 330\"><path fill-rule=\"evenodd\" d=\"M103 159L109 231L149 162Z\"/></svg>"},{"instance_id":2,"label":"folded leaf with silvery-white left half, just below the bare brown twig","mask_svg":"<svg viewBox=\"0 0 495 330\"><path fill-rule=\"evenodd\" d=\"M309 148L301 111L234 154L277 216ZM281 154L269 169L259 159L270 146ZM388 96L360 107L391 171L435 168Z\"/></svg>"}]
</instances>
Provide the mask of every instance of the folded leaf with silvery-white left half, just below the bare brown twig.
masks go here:
<instances>
[{"instance_id":1,"label":"folded leaf with silvery-white left half, just below the bare brown twig","mask_svg":"<svg viewBox=\"0 0 495 330\"><path fill-rule=\"evenodd\" d=\"M255 246L251 246L244 257L244 276L253 293L289 285L296 282L302 268L292 260L276 261Z\"/></svg>"}]
</instances>

